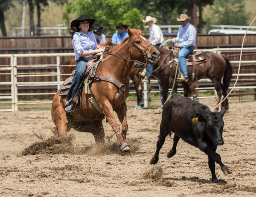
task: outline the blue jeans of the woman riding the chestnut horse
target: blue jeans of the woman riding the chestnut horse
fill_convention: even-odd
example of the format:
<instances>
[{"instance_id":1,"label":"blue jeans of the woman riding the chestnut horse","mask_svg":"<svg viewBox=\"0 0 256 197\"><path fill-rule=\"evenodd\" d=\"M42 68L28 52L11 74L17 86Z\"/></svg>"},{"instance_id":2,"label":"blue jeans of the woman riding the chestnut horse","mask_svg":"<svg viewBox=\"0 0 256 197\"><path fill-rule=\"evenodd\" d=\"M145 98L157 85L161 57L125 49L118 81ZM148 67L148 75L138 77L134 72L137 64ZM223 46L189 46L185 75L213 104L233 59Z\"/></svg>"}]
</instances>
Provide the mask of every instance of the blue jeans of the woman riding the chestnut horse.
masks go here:
<instances>
[{"instance_id":1,"label":"blue jeans of the woman riding the chestnut horse","mask_svg":"<svg viewBox=\"0 0 256 197\"><path fill-rule=\"evenodd\" d=\"M66 100L70 100L74 98L76 92L78 91L82 83L84 73L86 71L86 63L90 60L91 59L88 57L80 57L78 60L76 60L76 72L74 74L74 78L72 80Z\"/></svg>"}]
</instances>

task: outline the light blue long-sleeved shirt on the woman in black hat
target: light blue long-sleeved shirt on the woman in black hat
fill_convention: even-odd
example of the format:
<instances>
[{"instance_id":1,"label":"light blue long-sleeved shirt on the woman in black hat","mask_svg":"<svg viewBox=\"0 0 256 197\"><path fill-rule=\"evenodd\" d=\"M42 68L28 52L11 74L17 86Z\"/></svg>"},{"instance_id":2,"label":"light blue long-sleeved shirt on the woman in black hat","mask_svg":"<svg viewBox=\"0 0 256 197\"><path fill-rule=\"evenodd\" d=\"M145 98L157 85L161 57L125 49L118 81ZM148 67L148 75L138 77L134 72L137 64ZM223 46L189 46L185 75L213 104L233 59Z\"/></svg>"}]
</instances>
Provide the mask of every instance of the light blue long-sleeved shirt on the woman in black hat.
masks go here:
<instances>
[{"instance_id":1,"label":"light blue long-sleeved shirt on the woman in black hat","mask_svg":"<svg viewBox=\"0 0 256 197\"><path fill-rule=\"evenodd\" d=\"M97 48L97 41L93 31L87 31L87 35L81 31L76 32L73 35L72 44L76 54L75 60L80 58L79 54L83 51L95 50Z\"/></svg>"}]
</instances>

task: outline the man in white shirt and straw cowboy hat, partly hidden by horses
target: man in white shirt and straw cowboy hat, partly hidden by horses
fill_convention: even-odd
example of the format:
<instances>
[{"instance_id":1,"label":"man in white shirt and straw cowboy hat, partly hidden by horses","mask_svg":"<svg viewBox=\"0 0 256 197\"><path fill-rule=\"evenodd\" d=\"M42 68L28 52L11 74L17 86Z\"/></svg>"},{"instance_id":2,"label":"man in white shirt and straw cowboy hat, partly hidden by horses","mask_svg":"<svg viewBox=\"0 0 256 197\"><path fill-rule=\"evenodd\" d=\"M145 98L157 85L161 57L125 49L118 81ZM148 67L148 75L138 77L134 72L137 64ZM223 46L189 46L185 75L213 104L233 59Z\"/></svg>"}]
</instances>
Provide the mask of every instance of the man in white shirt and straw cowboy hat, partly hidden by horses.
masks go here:
<instances>
[{"instance_id":1,"label":"man in white shirt and straw cowboy hat, partly hidden by horses","mask_svg":"<svg viewBox=\"0 0 256 197\"><path fill-rule=\"evenodd\" d=\"M142 21L143 23L146 23L149 26L149 38L148 38L149 42L152 45L160 46L161 43L163 43L163 32L160 29L160 27L155 24L157 22L157 19L155 17L146 16L145 20L142 20ZM142 72L143 74L145 73L144 78L146 80L148 80L149 77L151 77L152 71L153 71L153 66L148 64L147 71ZM162 94L162 91L161 91L161 94Z\"/></svg>"}]
</instances>

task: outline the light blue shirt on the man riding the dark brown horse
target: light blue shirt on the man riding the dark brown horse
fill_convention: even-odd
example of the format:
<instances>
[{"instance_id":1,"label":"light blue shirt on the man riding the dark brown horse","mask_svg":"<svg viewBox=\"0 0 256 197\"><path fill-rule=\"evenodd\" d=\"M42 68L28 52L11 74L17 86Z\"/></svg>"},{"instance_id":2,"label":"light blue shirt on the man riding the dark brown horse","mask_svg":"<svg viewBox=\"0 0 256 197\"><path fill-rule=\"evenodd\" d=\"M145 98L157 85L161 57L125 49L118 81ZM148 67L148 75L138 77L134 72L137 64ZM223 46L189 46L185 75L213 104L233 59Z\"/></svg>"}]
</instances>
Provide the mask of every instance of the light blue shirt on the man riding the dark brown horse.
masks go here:
<instances>
[{"instance_id":1,"label":"light blue shirt on the man riding the dark brown horse","mask_svg":"<svg viewBox=\"0 0 256 197\"><path fill-rule=\"evenodd\" d=\"M189 46L195 46L196 29L195 27L187 23L184 27L180 26L175 40L180 43L180 48L187 48Z\"/></svg>"}]
</instances>

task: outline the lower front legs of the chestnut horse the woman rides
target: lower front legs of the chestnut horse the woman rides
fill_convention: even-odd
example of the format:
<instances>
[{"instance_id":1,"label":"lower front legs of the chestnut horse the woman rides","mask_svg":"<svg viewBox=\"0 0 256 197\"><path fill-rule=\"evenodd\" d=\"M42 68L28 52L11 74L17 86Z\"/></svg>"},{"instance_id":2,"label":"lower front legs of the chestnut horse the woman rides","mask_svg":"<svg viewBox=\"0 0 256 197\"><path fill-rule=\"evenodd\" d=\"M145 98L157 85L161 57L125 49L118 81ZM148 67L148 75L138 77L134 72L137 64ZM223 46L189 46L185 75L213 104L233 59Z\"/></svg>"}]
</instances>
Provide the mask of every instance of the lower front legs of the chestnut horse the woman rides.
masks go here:
<instances>
[{"instance_id":1,"label":"lower front legs of the chestnut horse the woman rides","mask_svg":"<svg viewBox=\"0 0 256 197\"><path fill-rule=\"evenodd\" d=\"M125 104L125 109L126 109L126 104ZM113 131L116 134L117 140L120 143L120 150L122 152L129 152L129 151L131 151L131 148L129 148L127 143L125 143L125 140L123 139L123 136L120 133L120 128L119 128L119 126L118 126L118 124L116 122L116 118L115 118L115 115L114 115L114 112L113 112L113 107L112 107L111 103L105 102L105 104L102 106L102 110L103 110L103 112L105 114L105 117L107 118L110 126L112 127ZM122 126L123 126L123 122L124 122L124 125L125 125L125 122L127 124L126 112L125 112L125 118L124 119L125 120L122 121ZM127 129L128 129L128 126L127 126Z\"/></svg>"}]
</instances>

